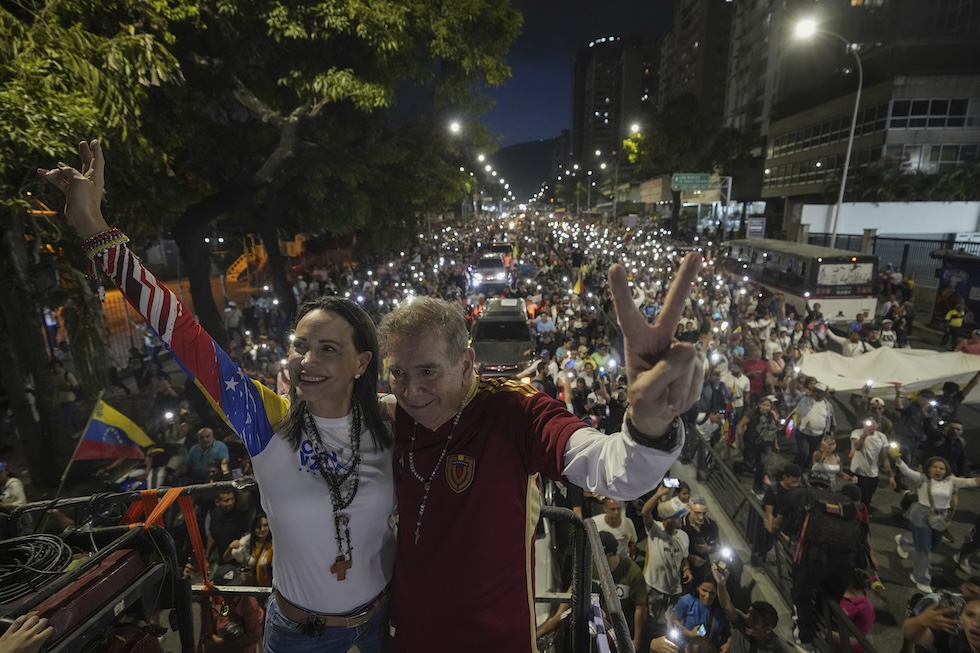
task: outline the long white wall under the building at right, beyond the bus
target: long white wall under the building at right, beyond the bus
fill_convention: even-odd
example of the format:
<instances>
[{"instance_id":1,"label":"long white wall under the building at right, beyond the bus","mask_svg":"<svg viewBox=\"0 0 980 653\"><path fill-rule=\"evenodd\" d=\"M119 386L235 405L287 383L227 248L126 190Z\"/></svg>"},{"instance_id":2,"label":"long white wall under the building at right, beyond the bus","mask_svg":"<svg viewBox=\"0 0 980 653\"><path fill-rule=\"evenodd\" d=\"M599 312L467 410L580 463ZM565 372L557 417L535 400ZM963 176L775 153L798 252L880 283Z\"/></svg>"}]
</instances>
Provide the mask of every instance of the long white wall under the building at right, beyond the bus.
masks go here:
<instances>
[{"instance_id":1,"label":"long white wall under the building at right, beyond the bus","mask_svg":"<svg viewBox=\"0 0 980 653\"><path fill-rule=\"evenodd\" d=\"M807 204L800 222L810 233L833 231L834 205ZM842 204L838 234L877 229L879 236L912 236L980 231L980 202L860 202Z\"/></svg>"}]
</instances>

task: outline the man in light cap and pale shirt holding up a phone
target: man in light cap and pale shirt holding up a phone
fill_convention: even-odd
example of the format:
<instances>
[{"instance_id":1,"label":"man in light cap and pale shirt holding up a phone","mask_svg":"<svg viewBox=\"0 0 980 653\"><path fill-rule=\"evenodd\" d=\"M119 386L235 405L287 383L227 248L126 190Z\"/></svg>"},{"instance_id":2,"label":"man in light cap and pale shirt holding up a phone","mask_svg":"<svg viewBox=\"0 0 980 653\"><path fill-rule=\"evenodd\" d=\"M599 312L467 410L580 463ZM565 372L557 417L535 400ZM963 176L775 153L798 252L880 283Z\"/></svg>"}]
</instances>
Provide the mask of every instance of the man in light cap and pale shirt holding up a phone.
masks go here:
<instances>
[{"instance_id":1,"label":"man in light cap and pale shirt holding up a phone","mask_svg":"<svg viewBox=\"0 0 980 653\"><path fill-rule=\"evenodd\" d=\"M654 507L666 491L667 488L663 485L657 488L640 511L643 525L647 529L643 578L646 580L648 593L645 646L638 650L645 650L652 639L667 632L668 611L680 597L683 584L694 578L691 563L687 560L691 540L681 528L681 518L687 513L687 509L681 508L664 517L660 523L654 519Z\"/></svg>"}]
</instances>

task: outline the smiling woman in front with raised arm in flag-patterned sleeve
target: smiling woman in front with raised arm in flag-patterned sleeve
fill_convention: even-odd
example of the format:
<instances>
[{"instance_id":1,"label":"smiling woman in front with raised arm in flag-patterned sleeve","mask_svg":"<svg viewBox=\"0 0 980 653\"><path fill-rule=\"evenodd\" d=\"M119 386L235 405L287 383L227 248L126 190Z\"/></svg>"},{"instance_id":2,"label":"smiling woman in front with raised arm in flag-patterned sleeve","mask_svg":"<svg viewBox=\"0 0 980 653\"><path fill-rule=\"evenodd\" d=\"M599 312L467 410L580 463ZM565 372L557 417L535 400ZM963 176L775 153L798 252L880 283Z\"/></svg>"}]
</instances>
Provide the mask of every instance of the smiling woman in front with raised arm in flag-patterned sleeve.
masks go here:
<instances>
[{"instance_id":1,"label":"smiling woman in front with raised arm in flag-patterned sleeve","mask_svg":"<svg viewBox=\"0 0 980 653\"><path fill-rule=\"evenodd\" d=\"M266 651L384 651L394 555L391 434L376 394L377 332L357 304L300 307L289 396L251 381L102 216L105 160L79 143L81 170L38 174L65 194L83 249L146 318L248 448L276 533Z\"/></svg>"}]
</instances>

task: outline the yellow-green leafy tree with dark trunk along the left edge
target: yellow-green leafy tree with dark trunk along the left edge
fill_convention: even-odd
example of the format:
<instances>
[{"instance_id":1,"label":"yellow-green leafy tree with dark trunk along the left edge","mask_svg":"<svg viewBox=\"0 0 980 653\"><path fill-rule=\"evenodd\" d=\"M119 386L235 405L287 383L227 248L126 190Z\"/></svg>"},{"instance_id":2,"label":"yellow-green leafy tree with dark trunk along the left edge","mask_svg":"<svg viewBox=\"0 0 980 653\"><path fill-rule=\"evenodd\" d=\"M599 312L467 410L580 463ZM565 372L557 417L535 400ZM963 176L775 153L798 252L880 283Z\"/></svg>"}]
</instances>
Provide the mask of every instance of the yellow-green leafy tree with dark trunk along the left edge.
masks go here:
<instances>
[{"instance_id":1,"label":"yellow-green leafy tree with dark trunk along the left edge","mask_svg":"<svg viewBox=\"0 0 980 653\"><path fill-rule=\"evenodd\" d=\"M150 7L152 3L145 3ZM104 385L109 363L100 332L101 307L68 230L28 213L38 165L73 161L81 136L139 139L147 89L179 79L176 59L142 28L116 21L95 32L72 19L70 0L21 0L0 6L0 377L25 443L32 480L57 483L71 454L70 434L51 399L41 307L64 306L71 353L86 388ZM145 18L146 11L142 16ZM143 156L152 156L144 148ZM33 387L37 415L26 388Z\"/></svg>"}]
</instances>

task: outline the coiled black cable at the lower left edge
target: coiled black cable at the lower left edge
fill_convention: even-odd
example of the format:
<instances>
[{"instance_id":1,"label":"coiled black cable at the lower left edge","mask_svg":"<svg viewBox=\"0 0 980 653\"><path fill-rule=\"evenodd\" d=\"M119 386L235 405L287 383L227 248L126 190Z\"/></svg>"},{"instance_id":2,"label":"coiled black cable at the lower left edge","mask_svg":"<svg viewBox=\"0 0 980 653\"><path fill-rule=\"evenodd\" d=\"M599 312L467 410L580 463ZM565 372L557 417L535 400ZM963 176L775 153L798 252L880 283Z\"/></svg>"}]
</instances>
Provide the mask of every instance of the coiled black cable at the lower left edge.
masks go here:
<instances>
[{"instance_id":1,"label":"coiled black cable at the lower left edge","mask_svg":"<svg viewBox=\"0 0 980 653\"><path fill-rule=\"evenodd\" d=\"M68 569L71 548L54 535L0 540L0 604L37 591Z\"/></svg>"}]
</instances>

